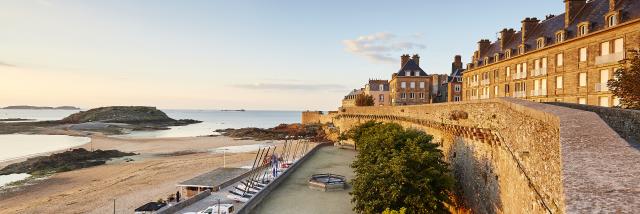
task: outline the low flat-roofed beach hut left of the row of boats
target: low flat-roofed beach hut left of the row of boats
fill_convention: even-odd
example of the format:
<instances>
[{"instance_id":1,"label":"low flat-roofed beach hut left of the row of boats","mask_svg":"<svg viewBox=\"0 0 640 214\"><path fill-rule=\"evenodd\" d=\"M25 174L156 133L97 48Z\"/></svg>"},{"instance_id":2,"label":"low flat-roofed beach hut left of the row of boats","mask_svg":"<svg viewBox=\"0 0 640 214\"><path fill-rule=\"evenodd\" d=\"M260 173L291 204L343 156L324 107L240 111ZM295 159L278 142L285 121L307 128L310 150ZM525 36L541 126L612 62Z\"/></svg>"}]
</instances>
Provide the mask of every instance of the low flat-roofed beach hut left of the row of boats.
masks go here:
<instances>
[{"instance_id":1,"label":"low flat-roofed beach hut left of the row of boats","mask_svg":"<svg viewBox=\"0 0 640 214\"><path fill-rule=\"evenodd\" d=\"M178 187L187 198L191 198L206 190L219 191L226 186L238 182L251 171L243 168L217 168L213 171L198 175L180 182Z\"/></svg>"}]
</instances>

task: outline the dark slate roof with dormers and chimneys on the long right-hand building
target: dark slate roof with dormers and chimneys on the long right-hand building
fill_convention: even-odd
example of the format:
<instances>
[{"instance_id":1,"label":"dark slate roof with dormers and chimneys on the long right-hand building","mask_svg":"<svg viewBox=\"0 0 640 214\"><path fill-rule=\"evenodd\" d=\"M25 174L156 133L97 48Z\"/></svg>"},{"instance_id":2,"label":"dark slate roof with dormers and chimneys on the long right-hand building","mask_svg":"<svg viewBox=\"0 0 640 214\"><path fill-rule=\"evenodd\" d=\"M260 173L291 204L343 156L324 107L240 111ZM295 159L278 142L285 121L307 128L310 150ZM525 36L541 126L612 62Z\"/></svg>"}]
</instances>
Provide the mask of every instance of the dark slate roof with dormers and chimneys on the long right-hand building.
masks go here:
<instances>
[{"instance_id":1,"label":"dark slate roof with dormers and chimneys on the long right-hand building","mask_svg":"<svg viewBox=\"0 0 640 214\"><path fill-rule=\"evenodd\" d=\"M640 1L639 0L620 0L616 5L616 10L622 11L622 19L619 23L624 23L640 18ZM531 35L526 38L525 44L527 52L536 50L536 40L540 37L546 38L546 46L556 43L555 34L560 30L566 30L566 40L576 37L578 24L589 21L589 32L596 32L605 28L605 15L609 13L609 0L592 0L585 4L575 18L572 19L569 27L565 29L564 17L565 13L556 15L541 21L533 30ZM511 49L511 56L517 56L517 49L522 44L522 32L518 31L511 38L505 38L505 50ZM491 43L483 55L479 56L478 64L483 65L485 57L489 57L489 61L493 61L495 54L504 57L503 50L500 49L500 39Z\"/></svg>"}]
</instances>

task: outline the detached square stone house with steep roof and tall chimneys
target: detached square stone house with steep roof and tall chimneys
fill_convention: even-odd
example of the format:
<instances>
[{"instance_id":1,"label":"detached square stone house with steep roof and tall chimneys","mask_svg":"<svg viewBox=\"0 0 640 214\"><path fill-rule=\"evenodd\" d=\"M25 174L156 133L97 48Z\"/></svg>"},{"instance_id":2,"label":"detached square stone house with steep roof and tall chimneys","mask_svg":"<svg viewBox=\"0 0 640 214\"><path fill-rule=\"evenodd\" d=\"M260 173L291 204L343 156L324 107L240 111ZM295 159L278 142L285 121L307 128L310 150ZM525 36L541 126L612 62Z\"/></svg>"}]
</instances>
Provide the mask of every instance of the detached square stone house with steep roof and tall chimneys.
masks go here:
<instances>
[{"instance_id":1,"label":"detached square stone house with steep roof and tall chimneys","mask_svg":"<svg viewBox=\"0 0 640 214\"><path fill-rule=\"evenodd\" d=\"M420 68L420 56L400 57L400 70L391 75L391 105L431 103L432 77Z\"/></svg>"}]
</instances>

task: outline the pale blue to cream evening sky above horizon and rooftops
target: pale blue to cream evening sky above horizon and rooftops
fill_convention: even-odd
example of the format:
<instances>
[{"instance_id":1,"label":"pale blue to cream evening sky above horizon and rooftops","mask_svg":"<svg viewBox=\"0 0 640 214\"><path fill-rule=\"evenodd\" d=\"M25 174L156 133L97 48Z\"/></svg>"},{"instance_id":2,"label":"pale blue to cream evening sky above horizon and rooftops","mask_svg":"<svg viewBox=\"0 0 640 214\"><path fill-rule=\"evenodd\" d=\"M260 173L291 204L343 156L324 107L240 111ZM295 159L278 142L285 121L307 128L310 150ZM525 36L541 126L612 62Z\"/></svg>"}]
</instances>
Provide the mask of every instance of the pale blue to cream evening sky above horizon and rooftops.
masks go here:
<instances>
[{"instance_id":1,"label":"pale blue to cream evening sky above horizon and rooftops","mask_svg":"<svg viewBox=\"0 0 640 214\"><path fill-rule=\"evenodd\" d=\"M547 1L545 1L547 2ZM400 55L427 73L561 0L0 0L0 106L334 110Z\"/></svg>"}]
</instances>

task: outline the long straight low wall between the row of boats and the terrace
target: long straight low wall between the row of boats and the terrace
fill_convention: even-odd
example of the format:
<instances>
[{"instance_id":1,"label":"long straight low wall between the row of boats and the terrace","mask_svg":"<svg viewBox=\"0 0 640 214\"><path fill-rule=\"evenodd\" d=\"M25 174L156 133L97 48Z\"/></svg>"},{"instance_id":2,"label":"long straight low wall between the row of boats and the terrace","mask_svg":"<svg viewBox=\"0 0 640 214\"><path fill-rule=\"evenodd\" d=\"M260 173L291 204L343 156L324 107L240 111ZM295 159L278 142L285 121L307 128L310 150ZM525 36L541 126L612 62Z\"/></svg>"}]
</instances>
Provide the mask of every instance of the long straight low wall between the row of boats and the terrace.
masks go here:
<instances>
[{"instance_id":1,"label":"long straight low wall between the row of boats and the terrace","mask_svg":"<svg viewBox=\"0 0 640 214\"><path fill-rule=\"evenodd\" d=\"M302 163L304 161L309 159L309 157L311 157L316 151L318 151L318 149L320 149L320 147L329 146L329 145L331 145L331 144L330 143L321 143L321 144L316 145L313 149L309 150L309 152L307 152L307 154L305 154L302 158L300 158L300 160L298 160L293 165L291 165L289 167L289 169L284 171L284 173L282 175L278 176L275 180L273 180L266 187L264 187L264 189L262 189L255 196L253 196L236 213L237 214L248 214L248 213L251 213L253 211L253 209L255 209L256 206L258 206L258 204L260 204L260 202L262 202L262 200L264 200L264 198L267 197L269 195L269 193L271 193L271 191L276 189L278 187L278 185L280 185L280 183L282 183L285 179L287 179L287 177L289 177L289 175L291 175L293 173L293 171L295 171L298 167L300 167L300 165L302 165Z\"/></svg>"}]
</instances>

